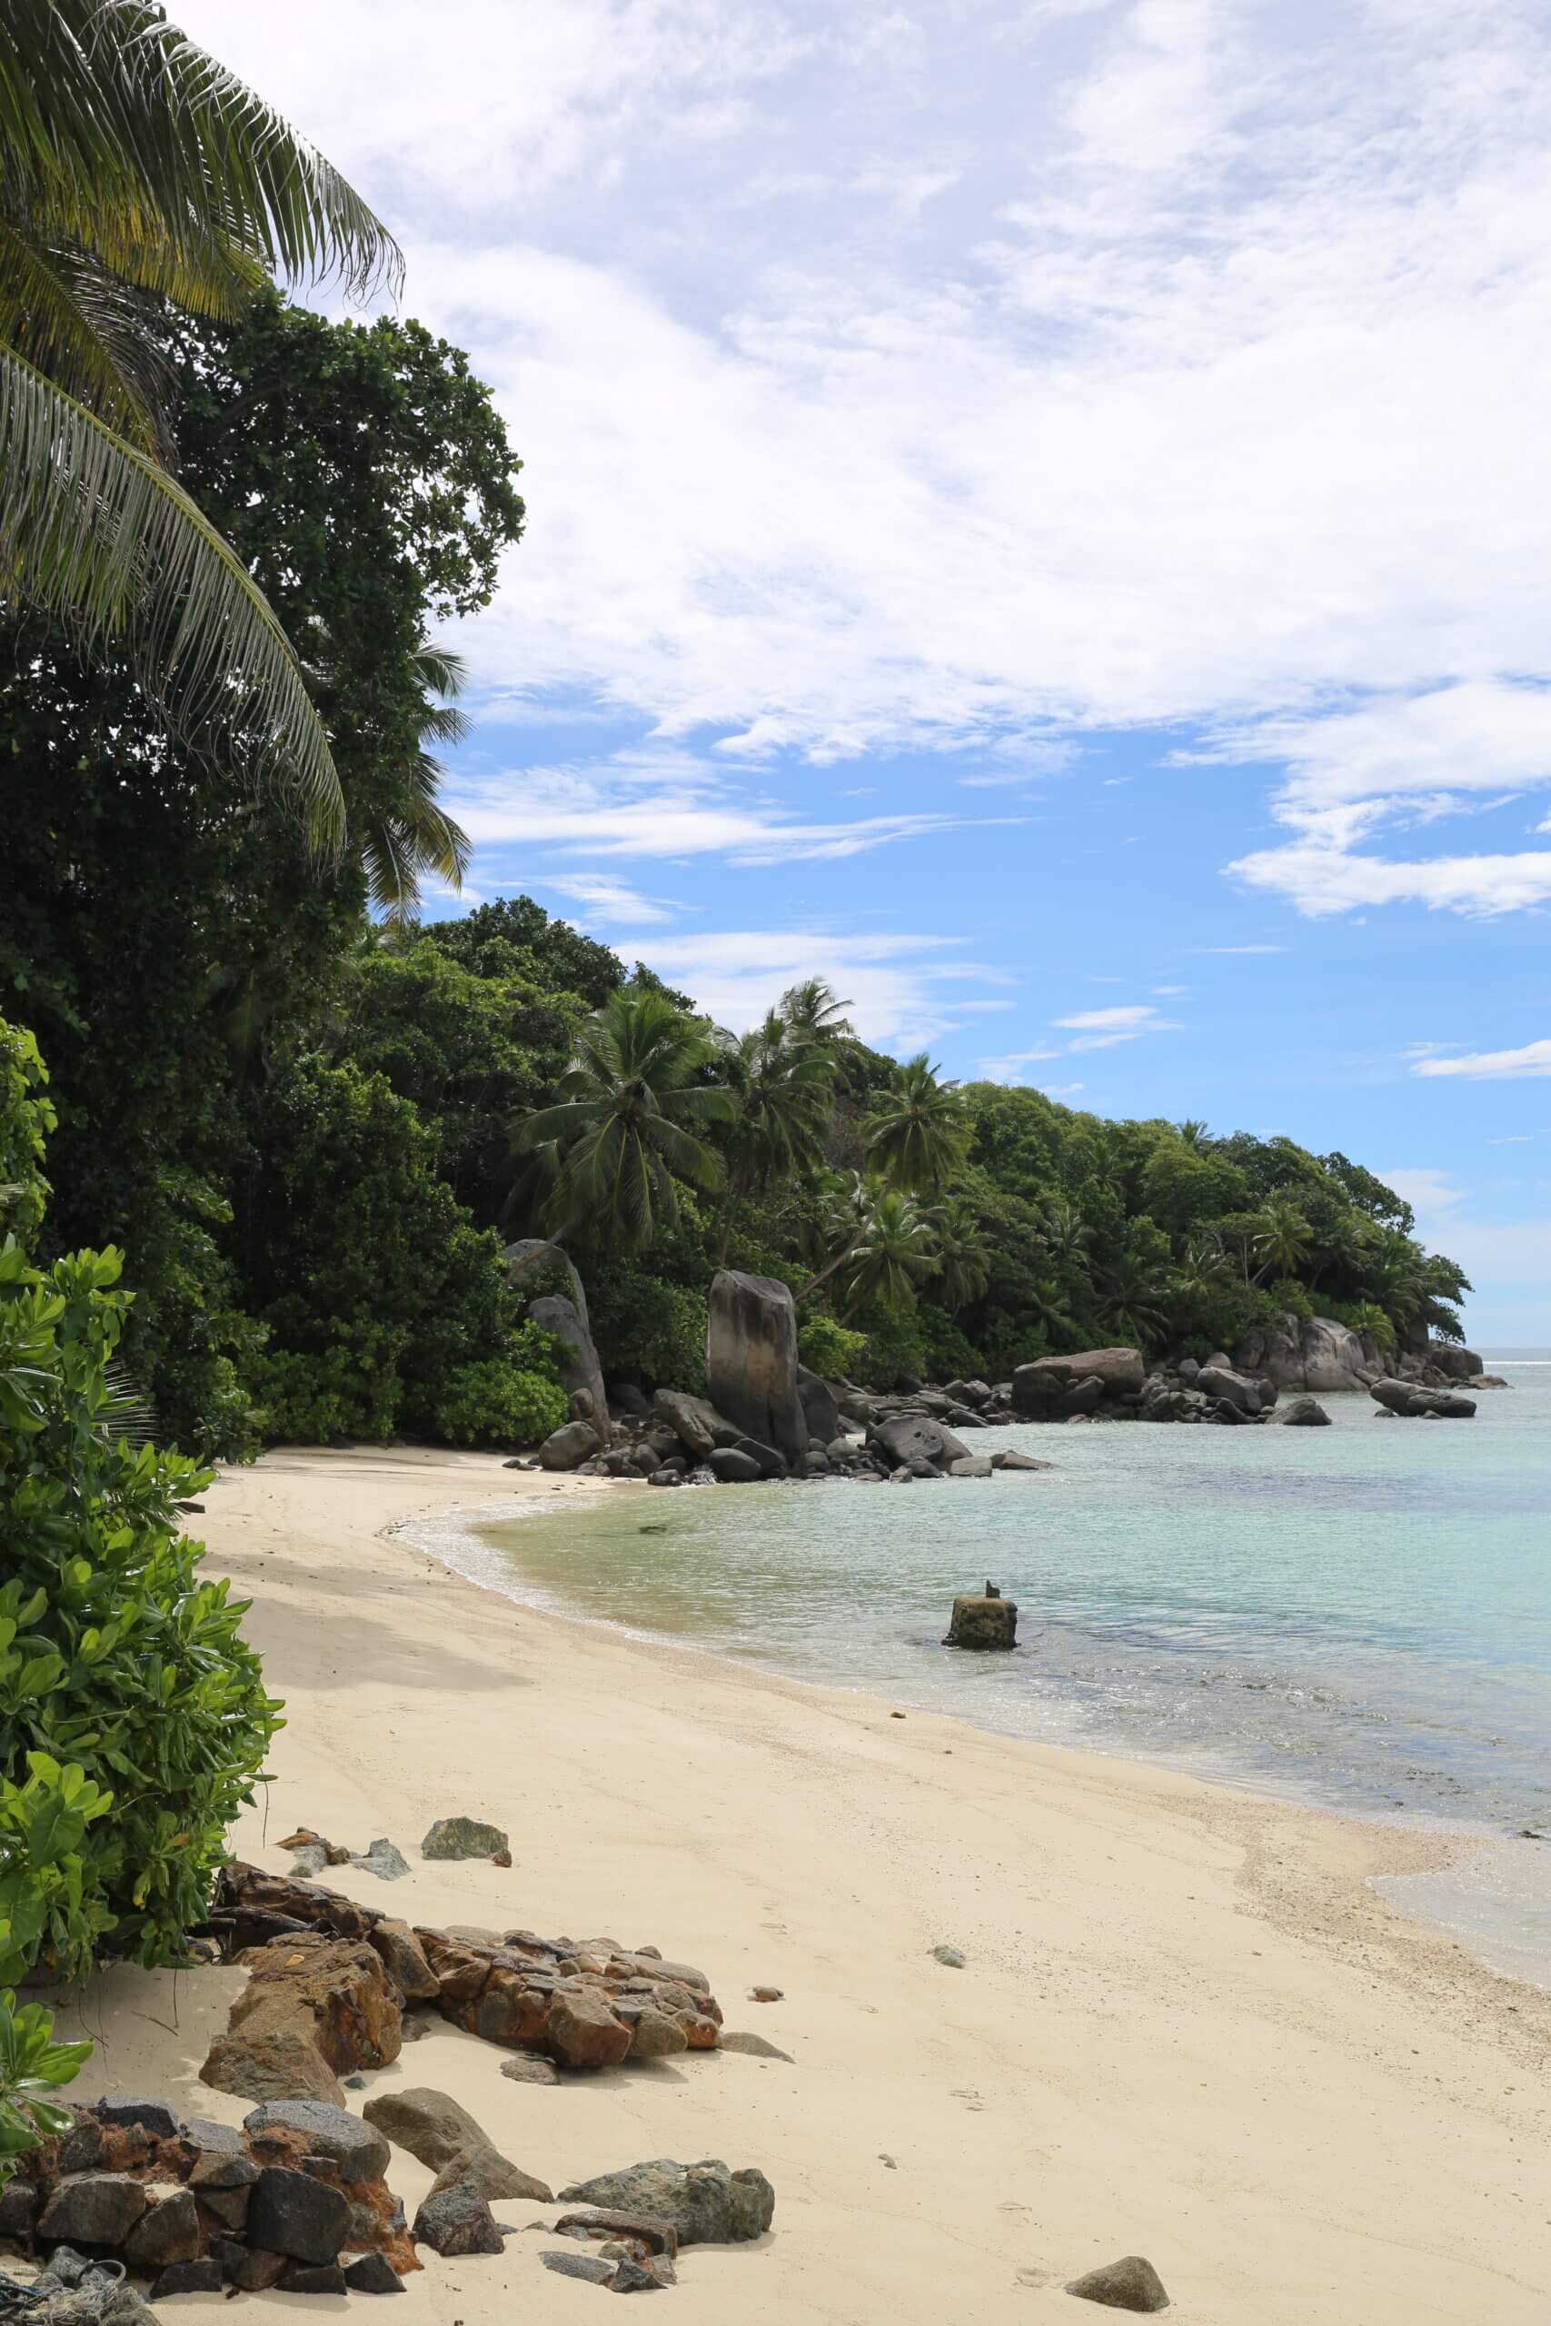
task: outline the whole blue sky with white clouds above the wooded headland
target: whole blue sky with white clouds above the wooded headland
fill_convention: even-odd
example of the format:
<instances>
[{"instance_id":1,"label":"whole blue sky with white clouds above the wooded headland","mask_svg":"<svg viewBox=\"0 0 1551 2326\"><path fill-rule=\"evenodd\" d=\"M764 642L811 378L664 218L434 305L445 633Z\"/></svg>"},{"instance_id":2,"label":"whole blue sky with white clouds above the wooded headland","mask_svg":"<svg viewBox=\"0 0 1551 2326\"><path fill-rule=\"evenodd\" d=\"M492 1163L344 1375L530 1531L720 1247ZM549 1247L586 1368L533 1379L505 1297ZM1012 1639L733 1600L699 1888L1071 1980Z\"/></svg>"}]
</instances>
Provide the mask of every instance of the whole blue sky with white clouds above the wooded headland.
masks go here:
<instances>
[{"instance_id":1,"label":"whole blue sky with white clouds above the wooded headland","mask_svg":"<svg viewBox=\"0 0 1551 2326\"><path fill-rule=\"evenodd\" d=\"M184 0L523 454L474 896L1342 1147L1551 1342L1551 21Z\"/></svg>"}]
</instances>

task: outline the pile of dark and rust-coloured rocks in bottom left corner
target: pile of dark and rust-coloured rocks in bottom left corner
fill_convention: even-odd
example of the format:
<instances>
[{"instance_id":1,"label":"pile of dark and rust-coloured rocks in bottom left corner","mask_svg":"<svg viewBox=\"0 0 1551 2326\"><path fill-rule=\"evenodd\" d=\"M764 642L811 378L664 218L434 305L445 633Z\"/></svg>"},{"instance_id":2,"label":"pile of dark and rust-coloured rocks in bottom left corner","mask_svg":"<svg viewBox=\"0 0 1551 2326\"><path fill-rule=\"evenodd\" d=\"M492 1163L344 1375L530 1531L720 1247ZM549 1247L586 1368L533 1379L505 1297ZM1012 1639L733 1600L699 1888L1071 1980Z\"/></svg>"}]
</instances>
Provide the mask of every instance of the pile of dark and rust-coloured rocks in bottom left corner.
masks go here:
<instances>
[{"instance_id":1,"label":"pile of dark and rust-coloured rocks in bottom left corner","mask_svg":"<svg viewBox=\"0 0 1551 2326\"><path fill-rule=\"evenodd\" d=\"M144 2279L158 2300L226 2286L398 2293L421 2268L384 2177L388 2142L346 2107L265 2103L237 2131L105 2098L72 2119L0 2189L0 2247L44 2263L37 2307L93 2277Z\"/></svg>"}]
</instances>

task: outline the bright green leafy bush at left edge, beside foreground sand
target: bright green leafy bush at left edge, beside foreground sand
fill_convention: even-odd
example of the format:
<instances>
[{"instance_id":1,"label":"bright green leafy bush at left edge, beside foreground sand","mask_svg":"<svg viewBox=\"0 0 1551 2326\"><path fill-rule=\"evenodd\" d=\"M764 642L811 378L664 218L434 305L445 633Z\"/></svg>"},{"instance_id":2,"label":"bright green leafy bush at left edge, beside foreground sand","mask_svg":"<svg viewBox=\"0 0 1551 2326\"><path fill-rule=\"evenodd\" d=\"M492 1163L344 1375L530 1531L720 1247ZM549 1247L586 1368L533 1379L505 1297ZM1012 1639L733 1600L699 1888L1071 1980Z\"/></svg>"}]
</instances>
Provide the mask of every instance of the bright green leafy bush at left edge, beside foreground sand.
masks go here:
<instances>
[{"instance_id":1,"label":"bright green leafy bush at left edge, beside foreground sand","mask_svg":"<svg viewBox=\"0 0 1551 2326\"><path fill-rule=\"evenodd\" d=\"M49 1270L0 1249L5 1814L47 1775L40 1754L114 1796L81 1831L79 1877L47 1900L37 1945L65 1975L102 1938L137 1963L181 1956L279 1726L240 1633L246 1603L198 1579L202 1547L179 1533L177 1505L209 1472L109 1430L119 1268L114 1249Z\"/></svg>"}]
</instances>

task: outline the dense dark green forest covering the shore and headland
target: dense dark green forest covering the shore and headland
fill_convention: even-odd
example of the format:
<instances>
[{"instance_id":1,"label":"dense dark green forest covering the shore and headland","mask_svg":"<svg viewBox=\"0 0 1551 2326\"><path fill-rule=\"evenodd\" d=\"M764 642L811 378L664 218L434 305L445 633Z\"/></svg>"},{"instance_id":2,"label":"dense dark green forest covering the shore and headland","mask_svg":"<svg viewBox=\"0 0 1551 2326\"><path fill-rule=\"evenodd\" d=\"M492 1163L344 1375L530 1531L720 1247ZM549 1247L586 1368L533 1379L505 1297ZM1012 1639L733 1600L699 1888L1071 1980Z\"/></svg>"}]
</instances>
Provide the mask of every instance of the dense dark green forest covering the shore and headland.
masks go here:
<instances>
[{"instance_id":1,"label":"dense dark green forest covering the shore and headland","mask_svg":"<svg viewBox=\"0 0 1551 2326\"><path fill-rule=\"evenodd\" d=\"M328 726L349 842L170 735L128 656L0 619L0 1014L49 1065L49 1254L112 1242L123 1356L200 1454L514 1442L565 1414L502 1244L558 1237L609 1377L695 1386L719 1265L786 1277L821 1370L1209 1354L1274 1314L1458 1333L1458 1268L1346 1156L1102 1121L867 1049L809 982L737 1035L530 898L423 926L456 663L523 530L458 349L256 298L160 316L179 477Z\"/></svg>"}]
</instances>

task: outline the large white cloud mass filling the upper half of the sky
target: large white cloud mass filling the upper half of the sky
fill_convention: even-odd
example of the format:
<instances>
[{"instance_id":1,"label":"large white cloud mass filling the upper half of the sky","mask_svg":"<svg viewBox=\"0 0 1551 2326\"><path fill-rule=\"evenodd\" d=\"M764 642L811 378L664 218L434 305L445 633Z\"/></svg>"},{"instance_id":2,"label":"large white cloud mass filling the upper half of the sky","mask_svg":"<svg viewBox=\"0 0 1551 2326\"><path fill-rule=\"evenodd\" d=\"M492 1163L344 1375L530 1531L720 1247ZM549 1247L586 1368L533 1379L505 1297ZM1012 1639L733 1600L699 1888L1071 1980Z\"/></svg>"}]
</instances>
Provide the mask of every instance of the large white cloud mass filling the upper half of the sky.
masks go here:
<instances>
[{"instance_id":1,"label":"large white cloud mass filling the upper half of the sky","mask_svg":"<svg viewBox=\"0 0 1551 2326\"><path fill-rule=\"evenodd\" d=\"M179 14L512 419L488 684L844 754L1546 668L1544 12Z\"/></svg>"}]
</instances>

